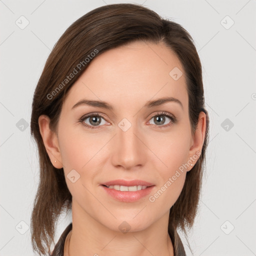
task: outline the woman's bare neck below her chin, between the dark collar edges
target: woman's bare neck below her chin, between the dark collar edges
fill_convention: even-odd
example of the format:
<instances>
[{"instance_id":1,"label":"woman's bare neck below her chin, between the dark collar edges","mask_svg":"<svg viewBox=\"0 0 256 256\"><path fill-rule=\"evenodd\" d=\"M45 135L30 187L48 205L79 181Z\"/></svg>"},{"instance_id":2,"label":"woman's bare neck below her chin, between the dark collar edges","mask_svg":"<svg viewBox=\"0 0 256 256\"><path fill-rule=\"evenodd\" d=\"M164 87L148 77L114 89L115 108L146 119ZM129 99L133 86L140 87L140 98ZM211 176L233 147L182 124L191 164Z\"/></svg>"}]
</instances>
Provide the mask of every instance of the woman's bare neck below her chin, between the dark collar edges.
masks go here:
<instances>
[{"instance_id":1,"label":"woman's bare neck below her chin, between the dark collar edges","mask_svg":"<svg viewBox=\"0 0 256 256\"><path fill-rule=\"evenodd\" d=\"M168 216L169 212L166 212L143 230L123 233L99 223L84 210L81 211L73 201L69 256L173 256L173 246L167 231Z\"/></svg>"}]
</instances>

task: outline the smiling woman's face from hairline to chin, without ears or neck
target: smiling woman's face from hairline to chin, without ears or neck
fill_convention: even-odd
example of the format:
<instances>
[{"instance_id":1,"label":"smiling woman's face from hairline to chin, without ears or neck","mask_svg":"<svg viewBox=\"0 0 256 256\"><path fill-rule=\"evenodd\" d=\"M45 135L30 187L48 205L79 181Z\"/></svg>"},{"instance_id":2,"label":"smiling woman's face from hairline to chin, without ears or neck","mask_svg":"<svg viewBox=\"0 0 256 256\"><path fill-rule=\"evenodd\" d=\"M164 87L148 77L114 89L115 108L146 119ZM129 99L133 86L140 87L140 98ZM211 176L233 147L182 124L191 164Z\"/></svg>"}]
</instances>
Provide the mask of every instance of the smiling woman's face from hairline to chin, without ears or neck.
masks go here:
<instances>
[{"instance_id":1,"label":"smiling woman's face from hairline to chin, without ears or neck","mask_svg":"<svg viewBox=\"0 0 256 256\"><path fill-rule=\"evenodd\" d=\"M58 160L80 216L112 230L126 221L135 231L168 215L195 163L185 77L174 79L173 68L184 74L162 43L133 42L96 56L69 90L57 126ZM150 103L167 97L175 100ZM81 100L101 104L74 106ZM104 186L116 179L135 183L114 181L128 191ZM139 184L147 187L130 191Z\"/></svg>"}]
</instances>

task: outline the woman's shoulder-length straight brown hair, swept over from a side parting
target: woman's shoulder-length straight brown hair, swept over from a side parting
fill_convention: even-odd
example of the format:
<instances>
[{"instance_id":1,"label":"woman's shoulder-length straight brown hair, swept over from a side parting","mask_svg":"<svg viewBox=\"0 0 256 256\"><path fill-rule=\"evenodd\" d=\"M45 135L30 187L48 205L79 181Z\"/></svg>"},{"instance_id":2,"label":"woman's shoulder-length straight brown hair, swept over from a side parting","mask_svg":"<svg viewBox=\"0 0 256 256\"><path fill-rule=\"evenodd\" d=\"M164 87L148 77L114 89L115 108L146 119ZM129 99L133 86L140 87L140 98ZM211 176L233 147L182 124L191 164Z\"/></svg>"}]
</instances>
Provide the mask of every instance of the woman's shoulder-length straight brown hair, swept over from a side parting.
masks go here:
<instances>
[{"instance_id":1,"label":"woman's shoulder-length straight brown hair, swept over from a side parting","mask_svg":"<svg viewBox=\"0 0 256 256\"><path fill-rule=\"evenodd\" d=\"M190 34L179 24L161 18L138 4L109 4L93 9L73 22L61 35L49 54L36 85L31 113L31 135L39 154L39 184L31 214L31 240L34 251L45 254L54 241L55 224L62 210L71 208L72 196L67 188L63 168L55 168L45 150L38 117L46 114L55 131L65 95L89 65L90 59L104 51L136 40L164 42L179 58L185 71L189 97L189 120L194 132L200 111L206 114L206 133L201 154L187 172L181 194L170 208L168 233L180 240L177 228L186 234L197 212L202 179L202 164L208 141L208 115L204 109L202 71L199 56ZM92 54L92 52L96 54ZM79 68L78 68L79 67ZM74 74L75 72L75 74ZM70 75L73 73L74 75ZM72 76L67 79L67 76Z\"/></svg>"}]
</instances>

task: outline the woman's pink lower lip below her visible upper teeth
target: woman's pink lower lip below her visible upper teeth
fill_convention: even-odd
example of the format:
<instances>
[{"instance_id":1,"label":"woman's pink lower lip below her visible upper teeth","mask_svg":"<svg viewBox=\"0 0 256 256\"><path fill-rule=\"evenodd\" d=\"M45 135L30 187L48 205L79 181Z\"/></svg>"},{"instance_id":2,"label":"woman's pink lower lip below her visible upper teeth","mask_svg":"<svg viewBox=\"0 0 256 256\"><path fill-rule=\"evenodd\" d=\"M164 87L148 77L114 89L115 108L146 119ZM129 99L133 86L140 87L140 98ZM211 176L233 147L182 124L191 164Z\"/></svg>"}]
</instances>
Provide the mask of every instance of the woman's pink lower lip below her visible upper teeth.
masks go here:
<instances>
[{"instance_id":1,"label":"woman's pink lower lip below her visible upper teeth","mask_svg":"<svg viewBox=\"0 0 256 256\"><path fill-rule=\"evenodd\" d=\"M139 199L141 199L142 197L148 195L153 186L148 186L145 189L141 189L141 190L137 190L137 191L119 191L119 190L115 190L113 188L108 188L106 186L103 186L103 189L109 194L111 195L113 198L122 201L122 202L134 202L134 201L138 201Z\"/></svg>"}]
</instances>

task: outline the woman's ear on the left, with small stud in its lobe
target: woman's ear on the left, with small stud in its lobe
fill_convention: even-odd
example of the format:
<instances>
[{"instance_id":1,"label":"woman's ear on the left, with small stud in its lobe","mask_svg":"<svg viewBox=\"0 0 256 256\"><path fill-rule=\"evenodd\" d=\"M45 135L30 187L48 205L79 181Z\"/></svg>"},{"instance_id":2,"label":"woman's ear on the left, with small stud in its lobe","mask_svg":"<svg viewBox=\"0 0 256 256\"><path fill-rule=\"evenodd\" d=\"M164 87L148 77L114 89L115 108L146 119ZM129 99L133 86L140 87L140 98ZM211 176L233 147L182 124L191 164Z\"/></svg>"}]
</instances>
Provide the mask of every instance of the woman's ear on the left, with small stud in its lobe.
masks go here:
<instances>
[{"instance_id":1,"label":"woman's ear on the left, with small stud in its lobe","mask_svg":"<svg viewBox=\"0 0 256 256\"><path fill-rule=\"evenodd\" d=\"M49 123L50 118L47 115L42 114L39 116L38 124L43 144L45 146L45 149L48 153L52 165L55 168L60 169L63 167L63 165L58 145L58 138L57 134L50 129Z\"/></svg>"}]
</instances>

